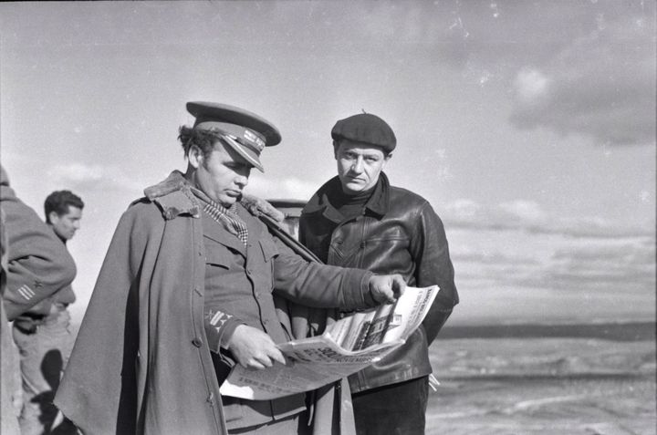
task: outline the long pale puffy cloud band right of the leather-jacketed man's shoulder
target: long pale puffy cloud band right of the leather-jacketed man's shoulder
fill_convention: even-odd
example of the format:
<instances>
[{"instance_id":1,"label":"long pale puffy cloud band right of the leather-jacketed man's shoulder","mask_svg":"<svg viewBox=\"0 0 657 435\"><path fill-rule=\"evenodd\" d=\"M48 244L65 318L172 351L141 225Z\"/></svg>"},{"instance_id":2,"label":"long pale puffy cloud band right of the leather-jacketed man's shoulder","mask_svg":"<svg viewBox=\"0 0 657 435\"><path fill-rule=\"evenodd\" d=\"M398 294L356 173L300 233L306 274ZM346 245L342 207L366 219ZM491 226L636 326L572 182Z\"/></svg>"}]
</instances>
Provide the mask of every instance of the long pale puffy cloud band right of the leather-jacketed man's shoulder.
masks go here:
<instances>
[{"instance_id":1,"label":"long pale puffy cloud band right of the leather-jacketed man's shoulder","mask_svg":"<svg viewBox=\"0 0 657 435\"><path fill-rule=\"evenodd\" d=\"M523 231L534 234L559 234L574 238L619 239L626 237L654 237L655 228L628 226L597 216L556 216L545 212L534 201L502 202L484 207L474 201L461 199L444 208L442 218L454 228L493 231Z\"/></svg>"}]
</instances>

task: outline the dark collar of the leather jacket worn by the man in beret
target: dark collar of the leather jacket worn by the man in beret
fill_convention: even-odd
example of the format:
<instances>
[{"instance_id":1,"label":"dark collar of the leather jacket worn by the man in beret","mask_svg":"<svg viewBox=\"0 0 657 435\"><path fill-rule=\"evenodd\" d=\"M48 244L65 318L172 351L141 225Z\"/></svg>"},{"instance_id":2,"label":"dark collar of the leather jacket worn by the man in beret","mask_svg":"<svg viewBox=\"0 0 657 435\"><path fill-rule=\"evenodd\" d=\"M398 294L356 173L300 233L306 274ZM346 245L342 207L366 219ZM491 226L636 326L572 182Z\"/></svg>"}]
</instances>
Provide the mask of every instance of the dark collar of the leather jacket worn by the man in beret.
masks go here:
<instances>
[{"instance_id":1,"label":"dark collar of the leather jacket worn by the man in beret","mask_svg":"<svg viewBox=\"0 0 657 435\"><path fill-rule=\"evenodd\" d=\"M322 187L315 192L308 204L303 209L304 214L322 212L324 217L329 221L340 223L344 219L342 214L331 205L329 198L342 192L342 185L339 177L335 176L328 180ZM379 181L377 181L368 202L365 203L366 211L375 216L382 217L390 208L390 181L385 173L381 172Z\"/></svg>"}]
</instances>

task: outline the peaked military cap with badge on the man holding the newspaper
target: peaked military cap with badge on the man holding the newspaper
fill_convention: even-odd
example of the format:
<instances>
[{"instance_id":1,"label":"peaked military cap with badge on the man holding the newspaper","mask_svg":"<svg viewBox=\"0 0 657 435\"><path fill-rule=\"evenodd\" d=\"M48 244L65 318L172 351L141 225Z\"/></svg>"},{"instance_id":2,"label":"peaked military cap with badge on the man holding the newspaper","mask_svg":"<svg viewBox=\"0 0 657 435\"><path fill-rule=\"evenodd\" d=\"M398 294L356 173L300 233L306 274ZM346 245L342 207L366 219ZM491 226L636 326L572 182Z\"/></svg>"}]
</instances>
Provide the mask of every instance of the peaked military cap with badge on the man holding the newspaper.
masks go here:
<instances>
[{"instance_id":1,"label":"peaked military cap with badge on the man holding the newspaper","mask_svg":"<svg viewBox=\"0 0 657 435\"><path fill-rule=\"evenodd\" d=\"M231 148L260 171L265 171L260 162L262 150L281 141L274 124L245 109L191 101L187 103L187 111L196 118L194 129L219 131Z\"/></svg>"}]
</instances>

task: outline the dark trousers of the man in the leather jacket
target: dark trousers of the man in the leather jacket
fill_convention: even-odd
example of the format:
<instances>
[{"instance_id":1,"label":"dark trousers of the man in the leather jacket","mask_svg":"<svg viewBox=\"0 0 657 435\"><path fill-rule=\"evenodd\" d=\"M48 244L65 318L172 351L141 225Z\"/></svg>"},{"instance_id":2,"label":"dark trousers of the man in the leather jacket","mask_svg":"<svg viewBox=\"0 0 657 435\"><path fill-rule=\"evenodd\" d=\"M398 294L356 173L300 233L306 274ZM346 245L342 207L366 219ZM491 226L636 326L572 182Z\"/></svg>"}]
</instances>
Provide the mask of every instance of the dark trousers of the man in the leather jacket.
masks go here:
<instances>
[{"instance_id":1,"label":"dark trousers of the man in the leather jacket","mask_svg":"<svg viewBox=\"0 0 657 435\"><path fill-rule=\"evenodd\" d=\"M423 435L428 377L372 388L354 394L358 435Z\"/></svg>"}]
</instances>

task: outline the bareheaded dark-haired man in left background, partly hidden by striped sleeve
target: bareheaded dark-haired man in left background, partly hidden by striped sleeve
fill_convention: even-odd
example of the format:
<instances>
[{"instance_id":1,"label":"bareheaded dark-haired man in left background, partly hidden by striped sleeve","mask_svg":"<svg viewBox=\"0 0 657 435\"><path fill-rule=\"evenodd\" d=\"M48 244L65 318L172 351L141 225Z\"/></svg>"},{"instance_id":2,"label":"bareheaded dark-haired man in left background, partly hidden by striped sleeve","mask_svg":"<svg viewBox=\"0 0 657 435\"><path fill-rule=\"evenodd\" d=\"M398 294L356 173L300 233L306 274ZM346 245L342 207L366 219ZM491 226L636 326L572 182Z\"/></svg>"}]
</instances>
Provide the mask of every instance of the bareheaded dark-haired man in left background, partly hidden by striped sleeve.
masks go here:
<instances>
[{"instance_id":1,"label":"bareheaded dark-haired man in left background, partly hidden by striped sleeve","mask_svg":"<svg viewBox=\"0 0 657 435\"><path fill-rule=\"evenodd\" d=\"M50 193L44 202L47 226L63 245L80 227L84 202L70 191ZM23 409L19 422L23 435L76 433L72 423L57 424L55 398L59 379L73 350L68 306L76 296L71 285L36 304L14 320L14 342L20 351Z\"/></svg>"}]
</instances>

